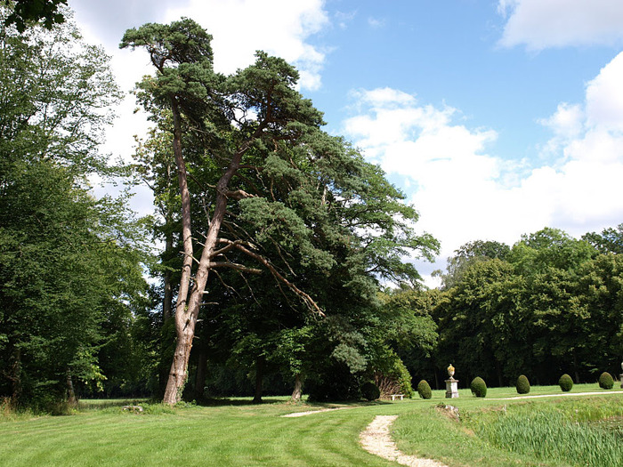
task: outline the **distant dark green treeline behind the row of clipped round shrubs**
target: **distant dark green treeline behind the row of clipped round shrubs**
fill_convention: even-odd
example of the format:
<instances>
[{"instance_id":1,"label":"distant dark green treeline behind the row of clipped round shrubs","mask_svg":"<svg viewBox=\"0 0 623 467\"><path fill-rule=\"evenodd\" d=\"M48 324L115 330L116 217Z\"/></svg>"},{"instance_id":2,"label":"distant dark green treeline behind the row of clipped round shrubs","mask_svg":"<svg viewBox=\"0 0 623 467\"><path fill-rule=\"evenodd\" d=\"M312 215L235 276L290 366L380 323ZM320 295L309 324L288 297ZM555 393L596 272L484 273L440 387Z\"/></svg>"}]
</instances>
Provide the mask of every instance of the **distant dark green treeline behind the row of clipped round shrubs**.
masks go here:
<instances>
[{"instance_id":1,"label":"distant dark green treeline behind the row of clipped round shrubs","mask_svg":"<svg viewBox=\"0 0 623 467\"><path fill-rule=\"evenodd\" d=\"M623 357L623 224L571 238L559 229L514 246L474 241L438 271L441 289L389 294L391 307L419 310L438 334L433 350L399 355L411 374L443 385L453 363L465 384L514 385L520 374L555 384L620 373Z\"/></svg>"}]
</instances>

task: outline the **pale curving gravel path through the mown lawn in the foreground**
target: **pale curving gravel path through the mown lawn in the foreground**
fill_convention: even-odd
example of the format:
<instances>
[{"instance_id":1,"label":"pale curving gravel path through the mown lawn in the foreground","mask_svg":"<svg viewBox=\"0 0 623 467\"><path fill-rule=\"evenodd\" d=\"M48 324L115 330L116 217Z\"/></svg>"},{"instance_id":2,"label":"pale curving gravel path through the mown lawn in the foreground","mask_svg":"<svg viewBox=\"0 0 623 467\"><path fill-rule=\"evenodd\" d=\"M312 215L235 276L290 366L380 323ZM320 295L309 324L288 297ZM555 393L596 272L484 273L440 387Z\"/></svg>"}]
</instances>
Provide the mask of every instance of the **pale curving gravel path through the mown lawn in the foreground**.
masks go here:
<instances>
[{"instance_id":1,"label":"pale curving gravel path through the mown lawn in the foreground","mask_svg":"<svg viewBox=\"0 0 623 467\"><path fill-rule=\"evenodd\" d=\"M361 446L374 455L380 455L388 461L409 465L410 467L447 467L432 459L421 459L415 455L404 455L398 450L390 436L390 428L398 415L376 415L366 430L361 431Z\"/></svg>"}]
</instances>

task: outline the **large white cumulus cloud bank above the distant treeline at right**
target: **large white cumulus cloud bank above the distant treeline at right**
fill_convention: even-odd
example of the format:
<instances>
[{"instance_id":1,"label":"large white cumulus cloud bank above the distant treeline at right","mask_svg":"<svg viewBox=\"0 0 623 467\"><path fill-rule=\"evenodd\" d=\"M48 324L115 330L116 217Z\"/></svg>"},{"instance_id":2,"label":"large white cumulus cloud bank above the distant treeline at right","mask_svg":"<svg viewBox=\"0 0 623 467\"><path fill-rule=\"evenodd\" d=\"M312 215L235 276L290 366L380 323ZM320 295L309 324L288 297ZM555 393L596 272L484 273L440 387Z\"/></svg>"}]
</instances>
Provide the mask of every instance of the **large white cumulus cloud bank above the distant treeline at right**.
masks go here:
<instances>
[{"instance_id":1,"label":"large white cumulus cloud bank above the distant treeline at right","mask_svg":"<svg viewBox=\"0 0 623 467\"><path fill-rule=\"evenodd\" d=\"M586 101L561 103L541 120L552 129L552 164L497 157L494 130L469 128L457 109L390 88L352 93L357 115L343 130L368 159L405 181L421 214L418 227L441 240L443 259L468 241L513 244L546 226L578 236L623 220L621 63L623 52L587 84Z\"/></svg>"}]
</instances>

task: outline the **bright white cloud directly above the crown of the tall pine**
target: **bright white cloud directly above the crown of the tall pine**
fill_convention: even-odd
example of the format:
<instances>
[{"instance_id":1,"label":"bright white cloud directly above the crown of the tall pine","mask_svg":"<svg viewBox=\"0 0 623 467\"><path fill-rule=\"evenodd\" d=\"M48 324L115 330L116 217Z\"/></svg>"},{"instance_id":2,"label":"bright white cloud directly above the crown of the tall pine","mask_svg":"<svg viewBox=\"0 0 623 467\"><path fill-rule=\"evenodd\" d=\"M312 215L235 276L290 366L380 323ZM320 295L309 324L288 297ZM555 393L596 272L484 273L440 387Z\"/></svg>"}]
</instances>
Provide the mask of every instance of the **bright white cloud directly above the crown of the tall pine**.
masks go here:
<instances>
[{"instance_id":1,"label":"bright white cloud directly above the crown of the tall pine","mask_svg":"<svg viewBox=\"0 0 623 467\"><path fill-rule=\"evenodd\" d=\"M190 0L170 8L166 22L186 16L214 36L214 68L232 73L254 61L256 50L277 55L301 72L303 89L320 88L325 52L307 42L328 27L322 0Z\"/></svg>"}]
</instances>

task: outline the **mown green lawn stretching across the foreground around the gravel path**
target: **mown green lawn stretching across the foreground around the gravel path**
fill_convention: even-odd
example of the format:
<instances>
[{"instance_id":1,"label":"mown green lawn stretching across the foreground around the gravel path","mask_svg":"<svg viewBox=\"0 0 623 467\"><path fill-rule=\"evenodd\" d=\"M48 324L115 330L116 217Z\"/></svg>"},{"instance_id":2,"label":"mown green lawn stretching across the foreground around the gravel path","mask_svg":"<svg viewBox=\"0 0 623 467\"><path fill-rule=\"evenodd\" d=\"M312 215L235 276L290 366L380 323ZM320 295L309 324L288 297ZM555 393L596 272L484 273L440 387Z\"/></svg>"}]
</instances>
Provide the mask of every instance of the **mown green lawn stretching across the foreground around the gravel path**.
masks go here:
<instances>
[{"instance_id":1,"label":"mown green lawn stretching across the foreground around the gravel path","mask_svg":"<svg viewBox=\"0 0 623 467\"><path fill-rule=\"evenodd\" d=\"M623 391L580 384L572 393L585 391L609 395L499 400L517 396L514 388L500 388L490 389L486 399L473 398L469 390L460 390L459 399L445 399L444 391L433 391L429 400L344 404L350 408L295 418L280 415L340 405L289 405L287 398L270 398L254 406L248 399L231 399L212 407L145 404L146 413L136 415L115 405L132 401L83 401L76 415L4 419L0 465L396 465L359 446L360 431L375 415L399 415L393 437L405 453L428 455L449 466L574 465L572 459L547 463L507 451L476 431L505 406L509 412L514 406L571 410L590 399L595 401L591 407L602 407L600 414L622 407L623 415ZM558 386L530 391L556 393ZM461 421L441 412L440 404L458 407Z\"/></svg>"}]
</instances>

